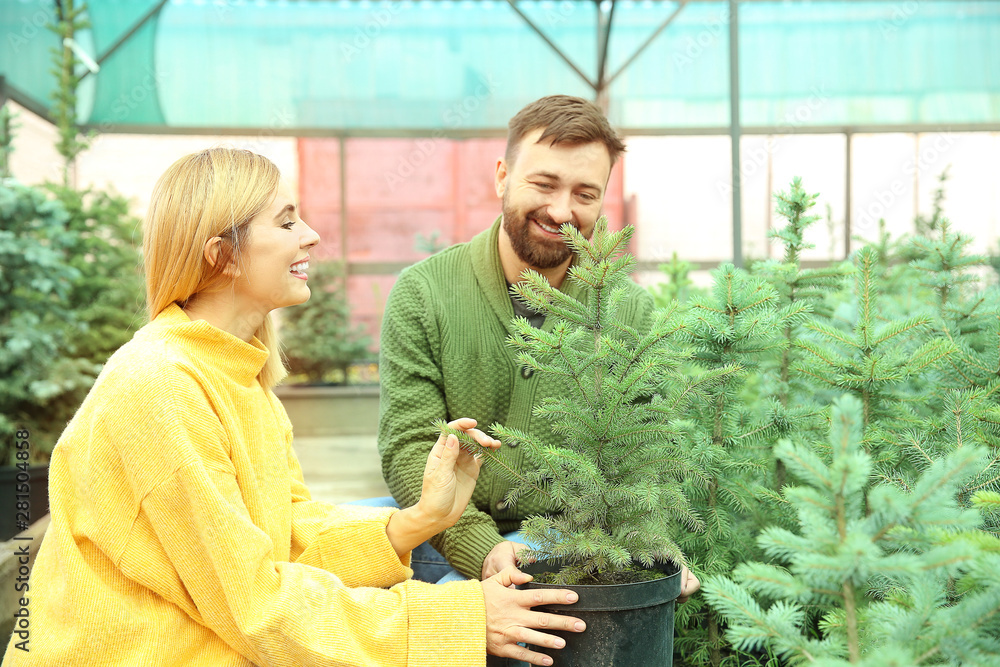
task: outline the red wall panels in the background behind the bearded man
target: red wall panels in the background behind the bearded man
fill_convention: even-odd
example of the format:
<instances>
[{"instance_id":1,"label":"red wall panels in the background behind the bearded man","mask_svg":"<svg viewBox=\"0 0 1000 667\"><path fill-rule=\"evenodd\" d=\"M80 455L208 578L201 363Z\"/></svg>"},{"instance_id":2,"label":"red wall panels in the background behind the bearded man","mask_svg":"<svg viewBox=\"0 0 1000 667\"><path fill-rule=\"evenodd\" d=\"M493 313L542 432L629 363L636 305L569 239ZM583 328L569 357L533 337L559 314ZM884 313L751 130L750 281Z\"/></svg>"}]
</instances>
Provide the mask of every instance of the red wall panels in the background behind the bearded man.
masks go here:
<instances>
[{"instance_id":1,"label":"red wall panels in the background behind the bearded man","mask_svg":"<svg viewBox=\"0 0 1000 667\"><path fill-rule=\"evenodd\" d=\"M426 257L417 235L452 245L468 241L500 214L493 181L504 139L346 139L346 201L341 200L341 140L303 138L299 149L302 217L321 236L319 259L346 259L352 267L348 298L377 349L385 299L395 273L364 265L411 264ZM625 223L623 165L611 173L604 213ZM346 204L346 206L344 206ZM341 212L346 208L346 248Z\"/></svg>"}]
</instances>

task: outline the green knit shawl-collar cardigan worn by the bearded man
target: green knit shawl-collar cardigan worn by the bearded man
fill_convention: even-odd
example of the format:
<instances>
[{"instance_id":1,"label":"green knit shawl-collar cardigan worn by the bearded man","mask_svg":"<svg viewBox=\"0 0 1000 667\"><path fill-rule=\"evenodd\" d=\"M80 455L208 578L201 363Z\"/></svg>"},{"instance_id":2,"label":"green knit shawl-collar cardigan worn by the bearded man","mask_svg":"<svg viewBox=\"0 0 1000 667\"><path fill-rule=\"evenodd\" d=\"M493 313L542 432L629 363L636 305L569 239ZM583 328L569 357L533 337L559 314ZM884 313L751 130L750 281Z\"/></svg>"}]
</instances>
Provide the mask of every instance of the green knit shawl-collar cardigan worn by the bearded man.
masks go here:
<instances>
[{"instance_id":1,"label":"green knit shawl-collar cardigan worn by the bearded man","mask_svg":"<svg viewBox=\"0 0 1000 667\"><path fill-rule=\"evenodd\" d=\"M500 219L468 243L461 243L404 270L389 294L382 323L378 448L382 473L402 507L420 498L427 454L436 439L435 419L472 417L486 430L494 422L558 443L548 422L532 414L544 397L563 391L556 379L521 369L506 344L514 309L500 265ZM643 329L653 301L639 285L619 311ZM560 288L585 300L570 279ZM543 330L550 330L547 318ZM522 451L501 455L524 466ZM452 567L480 577L501 533L517 530L541 510L530 495L513 507L503 504L509 485L484 468L472 502L458 522L431 539Z\"/></svg>"}]
</instances>

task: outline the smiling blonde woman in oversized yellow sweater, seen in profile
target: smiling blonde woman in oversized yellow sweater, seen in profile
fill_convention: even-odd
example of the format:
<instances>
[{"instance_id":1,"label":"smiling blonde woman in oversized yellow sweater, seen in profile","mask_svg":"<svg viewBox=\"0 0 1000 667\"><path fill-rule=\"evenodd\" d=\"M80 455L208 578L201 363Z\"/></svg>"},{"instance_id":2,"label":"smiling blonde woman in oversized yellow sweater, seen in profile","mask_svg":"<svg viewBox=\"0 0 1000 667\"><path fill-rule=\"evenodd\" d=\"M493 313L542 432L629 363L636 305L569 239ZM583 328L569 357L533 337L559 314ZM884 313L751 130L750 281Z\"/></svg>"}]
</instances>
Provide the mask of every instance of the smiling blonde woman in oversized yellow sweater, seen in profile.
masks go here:
<instances>
[{"instance_id":1,"label":"smiling blonde woman in oversized yellow sweater, seen in profile","mask_svg":"<svg viewBox=\"0 0 1000 667\"><path fill-rule=\"evenodd\" d=\"M53 451L52 523L30 582L30 651L5 665L455 665L532 629L582 629L531 610L568 591L408 581L409 551L452 525L480 462L454 437L400 511L313 501L271 387L285 373L270 311L309 298L309 249L267 159L182 158L144 228L150 323L106 364ZM487 447L475 422L453 422Z\"/></svg>"}]
</instances>

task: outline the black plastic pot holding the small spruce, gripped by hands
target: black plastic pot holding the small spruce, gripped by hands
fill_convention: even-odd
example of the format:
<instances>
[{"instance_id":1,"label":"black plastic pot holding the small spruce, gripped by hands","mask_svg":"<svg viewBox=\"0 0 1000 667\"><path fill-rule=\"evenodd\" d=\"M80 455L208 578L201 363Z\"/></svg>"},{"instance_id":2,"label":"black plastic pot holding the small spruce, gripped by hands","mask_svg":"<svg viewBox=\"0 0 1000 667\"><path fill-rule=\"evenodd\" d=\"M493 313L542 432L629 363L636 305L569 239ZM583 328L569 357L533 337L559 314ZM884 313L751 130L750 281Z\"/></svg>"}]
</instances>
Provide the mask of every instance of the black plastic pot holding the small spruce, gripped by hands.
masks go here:
<instances>
[{"instance_id":1,"label":"black plastic pot holding the small spruce, gripped by hands","mask_svg":"<svg viewBox=\"0 0 1000 667\"><path fill-rule=\"evenodd\" d=\"M557 568L532 563L521 568L537 576ZM558 650L532 646L552 656L553 667L670 667L674 661L674 601L681 593L680 571L673 565L656 569L667 576L654 581L607 586L556 586L530 582L520 588L564 588L576 591L573 605L535 607L576 616L587 624L582 633L553 632L566 640ZM525 664L511 661L513 665Z\"/></svg>"}]
</instances>

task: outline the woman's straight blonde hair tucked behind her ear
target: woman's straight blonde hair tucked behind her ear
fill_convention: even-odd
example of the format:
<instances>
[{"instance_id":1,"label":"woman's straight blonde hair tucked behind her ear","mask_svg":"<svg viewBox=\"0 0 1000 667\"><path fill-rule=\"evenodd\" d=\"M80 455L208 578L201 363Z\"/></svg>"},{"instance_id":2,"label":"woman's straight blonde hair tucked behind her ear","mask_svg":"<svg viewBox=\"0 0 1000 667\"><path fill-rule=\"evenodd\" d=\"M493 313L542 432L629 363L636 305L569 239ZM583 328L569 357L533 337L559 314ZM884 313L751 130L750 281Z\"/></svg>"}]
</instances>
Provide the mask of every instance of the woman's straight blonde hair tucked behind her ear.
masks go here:
<instances>
[{"instance_id":1,"label":"woman's straight blonde hair tucked behind her ear","mask_svg":"<svg viewBox=\"0 0 1000 667\"><path fill-rule=\"evenodd\" d=\"M143 225L142 254L150 319L172 303L184 306L199 292L232 282L225 272L239 261L250 220L274 200L281 175L273 162L251 151L209 148L181 158L157 181ZM218 236L212 266L205 244ZM287 370L271 315L256 331L270 351L259 378L273 387Z\"/></svg>"}]
</instances>

